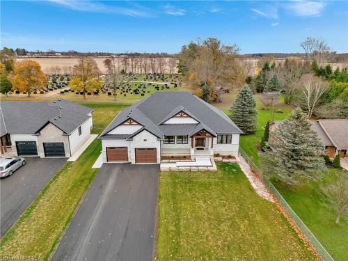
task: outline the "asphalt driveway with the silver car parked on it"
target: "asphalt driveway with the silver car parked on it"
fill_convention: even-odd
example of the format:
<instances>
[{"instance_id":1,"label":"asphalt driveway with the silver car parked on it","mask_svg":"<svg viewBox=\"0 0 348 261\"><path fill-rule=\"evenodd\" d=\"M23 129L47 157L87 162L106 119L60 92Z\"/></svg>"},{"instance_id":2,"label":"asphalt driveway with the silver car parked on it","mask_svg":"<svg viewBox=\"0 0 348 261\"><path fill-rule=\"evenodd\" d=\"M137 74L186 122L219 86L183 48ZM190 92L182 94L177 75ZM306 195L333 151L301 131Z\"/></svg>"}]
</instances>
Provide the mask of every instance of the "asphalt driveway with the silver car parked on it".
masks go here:
<instances>
[{"instance_id":1,"label":"asphalt driveway with the silver car parked on it","mask_svg":"<svg viewBox=\"0 0 348 261\"><path fill-rule=\"evenodd\" d=\"M63 166L66 159L27 157L26 165L0 179L1 237Z\"/></svg>"}]
</instances>

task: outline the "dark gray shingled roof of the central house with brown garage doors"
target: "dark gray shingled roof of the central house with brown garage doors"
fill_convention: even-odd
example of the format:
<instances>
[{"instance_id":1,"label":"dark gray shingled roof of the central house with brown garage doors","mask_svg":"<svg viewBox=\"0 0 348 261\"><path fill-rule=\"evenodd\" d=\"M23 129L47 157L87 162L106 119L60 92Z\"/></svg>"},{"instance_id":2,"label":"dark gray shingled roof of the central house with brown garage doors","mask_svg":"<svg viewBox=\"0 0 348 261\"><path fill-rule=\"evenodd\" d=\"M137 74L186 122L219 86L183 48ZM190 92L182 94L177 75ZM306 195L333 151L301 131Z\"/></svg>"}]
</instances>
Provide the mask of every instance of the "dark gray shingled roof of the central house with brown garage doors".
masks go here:
<instances>
[{"instance_id":1,"label":"dark gray shingled roof of the central house with brown garage doors","mask_svg":"<svg viewBox=\"0 0 348 261\"><path fill-rule=\"evenodd\" d=\"M198 125L164 125L164 121L180 112L187 112L197 120ZM163 135L189 135L194 134L193 129L202 127L216 134L242 134L242 131L225 113L207 102L203 102L195 95L187 92L158 92L141 102L121 111L118 116L106 127L100 135L101 139L112 129L132 118L143 125L152 134L162 138ZM128 137L129 138L129 137Z\"/></svg>"}]
</instances>

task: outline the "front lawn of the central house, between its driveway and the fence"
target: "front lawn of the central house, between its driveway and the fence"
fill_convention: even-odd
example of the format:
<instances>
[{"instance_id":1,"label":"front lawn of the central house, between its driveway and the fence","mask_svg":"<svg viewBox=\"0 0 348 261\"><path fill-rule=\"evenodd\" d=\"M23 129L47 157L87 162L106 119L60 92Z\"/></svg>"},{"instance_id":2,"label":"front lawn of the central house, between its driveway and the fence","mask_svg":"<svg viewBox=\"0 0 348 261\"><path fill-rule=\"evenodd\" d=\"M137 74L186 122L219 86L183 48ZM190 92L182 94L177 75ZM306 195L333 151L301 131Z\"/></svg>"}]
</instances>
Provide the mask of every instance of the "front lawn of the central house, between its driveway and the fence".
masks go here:
<instances>
[{"instance_id":1,"label":"front lawn of the central house, between its driveway and the fence","mask_svg":"<svg viewBox=\"0 0 348 261\"><path fill-rule=\"evenodd\" d=\"M315 260L237 164L161 173L157 260Z\"/></svg>"}]
</instances>

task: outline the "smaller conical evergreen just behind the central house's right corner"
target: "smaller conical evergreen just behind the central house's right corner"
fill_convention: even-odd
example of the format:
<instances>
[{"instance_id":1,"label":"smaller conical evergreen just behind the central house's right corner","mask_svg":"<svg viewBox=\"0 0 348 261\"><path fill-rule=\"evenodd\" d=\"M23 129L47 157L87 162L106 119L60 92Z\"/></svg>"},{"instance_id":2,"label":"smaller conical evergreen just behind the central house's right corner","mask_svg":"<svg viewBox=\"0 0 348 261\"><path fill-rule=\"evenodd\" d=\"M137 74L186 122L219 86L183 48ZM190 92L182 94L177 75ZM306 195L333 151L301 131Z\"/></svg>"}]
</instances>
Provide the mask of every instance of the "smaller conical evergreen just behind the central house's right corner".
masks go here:
<instances>
[{"instance_id":1,"label":"smaller conical evergreen just behind the central house's right corner","mask_svg":"<svg viewBox=\"0 0 348 261\"><path fill-rule=\"evenodd\" d=\"M244 134L256 132L258 111L251 88L246 84L241 90L230 108L230 118L242 129Z\"/></svg>"}]
</instances>

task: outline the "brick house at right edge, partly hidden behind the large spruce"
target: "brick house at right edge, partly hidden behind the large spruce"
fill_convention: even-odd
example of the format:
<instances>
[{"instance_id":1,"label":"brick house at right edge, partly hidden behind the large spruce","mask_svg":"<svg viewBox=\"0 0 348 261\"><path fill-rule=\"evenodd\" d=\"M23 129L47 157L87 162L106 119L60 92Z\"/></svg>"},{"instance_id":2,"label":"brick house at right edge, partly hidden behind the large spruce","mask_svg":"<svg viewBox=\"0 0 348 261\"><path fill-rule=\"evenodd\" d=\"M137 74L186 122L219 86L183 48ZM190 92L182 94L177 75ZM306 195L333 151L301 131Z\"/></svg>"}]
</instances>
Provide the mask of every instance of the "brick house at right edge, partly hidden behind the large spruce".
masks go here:
<instances>
[{"instance_id":1,"label":"brick house at right edge, partly hidden behind the large spruce","mask_svg":"<svg viewBox=\"0 0 348 261\"><path fill-rule=\"evenodd\" d=\"M269 125L269 139L273 139L271 132L280 125L280 122L274 121ZM310 120L310 123L322 140L324 154L334 158L340 153L341 158L348 158L348 120Z\"/></svg>"}]
</instances>

